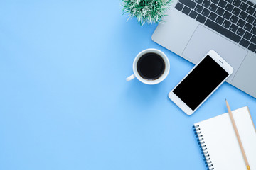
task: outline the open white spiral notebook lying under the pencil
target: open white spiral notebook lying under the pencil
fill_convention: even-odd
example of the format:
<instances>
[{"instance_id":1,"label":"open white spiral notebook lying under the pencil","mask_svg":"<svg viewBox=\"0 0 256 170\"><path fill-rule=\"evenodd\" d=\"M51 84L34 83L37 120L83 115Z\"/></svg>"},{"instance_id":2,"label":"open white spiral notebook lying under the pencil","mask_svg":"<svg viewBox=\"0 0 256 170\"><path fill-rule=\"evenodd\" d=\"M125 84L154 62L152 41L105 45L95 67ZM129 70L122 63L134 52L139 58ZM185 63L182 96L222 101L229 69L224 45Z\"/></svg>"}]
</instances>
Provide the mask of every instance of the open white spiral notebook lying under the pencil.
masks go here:
<instances>
[{"instance_id":1,"label":"open white spiral notebook lying under the pencil","mask_svg":"<svg viewBox=\"0 0 256 170\"><path fill-rule=\"evenodd\" d=\"M232 111L251 170L256 170L256 130L247 106ZM193 125L209 170L246 170L228 113Z\"/></svg>"}]
</instances>

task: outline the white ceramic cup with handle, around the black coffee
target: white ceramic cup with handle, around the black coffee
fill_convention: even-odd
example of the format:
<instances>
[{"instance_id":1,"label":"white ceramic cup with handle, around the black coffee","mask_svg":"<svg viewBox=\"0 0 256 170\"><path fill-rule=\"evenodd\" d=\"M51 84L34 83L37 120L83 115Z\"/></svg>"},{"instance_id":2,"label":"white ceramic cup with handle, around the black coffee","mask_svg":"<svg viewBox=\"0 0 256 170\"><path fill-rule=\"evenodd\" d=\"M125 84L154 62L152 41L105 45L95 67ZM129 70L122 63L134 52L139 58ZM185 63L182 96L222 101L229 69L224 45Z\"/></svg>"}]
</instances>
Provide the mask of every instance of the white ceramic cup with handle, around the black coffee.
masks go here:
<instances>
[{"instance_id":1,"label":"white ceramic cup with handle, around the black coffee","mask_svg":"<svg viewBox=\"0 0 256 170\"><path fill-rule=\"evenodd\" d=\"M162 60L164 60L164 65L165 65L164 72L157 79L146 79L146 78L142 77L138 72L137 63L138 63L139 59L148 53L155 53L156 55L159 55L162 58ZM161 52L160 50L157 50L154 48L149 48L149 49L143 50L142 52L139 52L139 54L134 59L132 69L133 69L134 74L127 77L127 79L126 79L127 81L131 81L132 79L134 79L136 77L139 81L142 81L142 83L144 83L144 84L159 84L169 74L170 63L169 63L168 57L164 54L164 52Z\"/></svg>"}]
</instances>

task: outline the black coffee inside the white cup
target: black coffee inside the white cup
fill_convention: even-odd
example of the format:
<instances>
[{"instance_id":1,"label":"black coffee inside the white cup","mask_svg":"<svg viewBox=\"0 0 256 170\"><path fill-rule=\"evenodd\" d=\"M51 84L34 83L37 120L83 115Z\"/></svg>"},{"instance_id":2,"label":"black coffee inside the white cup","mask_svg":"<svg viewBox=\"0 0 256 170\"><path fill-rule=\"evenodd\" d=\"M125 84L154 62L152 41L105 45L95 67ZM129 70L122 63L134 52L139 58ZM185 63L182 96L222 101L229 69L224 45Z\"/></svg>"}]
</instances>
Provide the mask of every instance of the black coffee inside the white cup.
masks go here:
<instances>
[{"instance_id":1,"label":"black coffee inside the white cup","mask_svg":"<svg viewBox=\"0 0 256 170\"><path fill-rule=\"evenodd\" d=\"M158 79L164 73L164 69L164 60L153 52L143 55L137 62L139 75L144 79Z\"/></svg>"}]
</instances>

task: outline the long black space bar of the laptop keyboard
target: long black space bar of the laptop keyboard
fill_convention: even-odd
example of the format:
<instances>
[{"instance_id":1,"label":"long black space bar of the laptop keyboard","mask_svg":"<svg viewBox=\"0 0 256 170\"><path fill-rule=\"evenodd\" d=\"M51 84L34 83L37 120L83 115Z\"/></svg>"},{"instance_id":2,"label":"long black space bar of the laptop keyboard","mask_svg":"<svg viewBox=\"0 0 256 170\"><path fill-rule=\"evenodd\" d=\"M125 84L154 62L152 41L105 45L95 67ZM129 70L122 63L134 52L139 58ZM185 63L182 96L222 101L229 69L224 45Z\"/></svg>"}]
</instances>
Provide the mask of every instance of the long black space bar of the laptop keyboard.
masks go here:
<instances>
[{"instance_id":1,"label":"long black space bar of the laptop keyboard","mask_svg":"<svg viewBox=\"0 0 256 170\"><path fill-rule=\"evenodd\" d=\"M210 21L210 19L206 20L205 25L237 43L241 40L239 35L232 33L230 30L224 28L223 26L218 25L218 23L215 23L214 21Z\"/></svg>"}]
</instances>

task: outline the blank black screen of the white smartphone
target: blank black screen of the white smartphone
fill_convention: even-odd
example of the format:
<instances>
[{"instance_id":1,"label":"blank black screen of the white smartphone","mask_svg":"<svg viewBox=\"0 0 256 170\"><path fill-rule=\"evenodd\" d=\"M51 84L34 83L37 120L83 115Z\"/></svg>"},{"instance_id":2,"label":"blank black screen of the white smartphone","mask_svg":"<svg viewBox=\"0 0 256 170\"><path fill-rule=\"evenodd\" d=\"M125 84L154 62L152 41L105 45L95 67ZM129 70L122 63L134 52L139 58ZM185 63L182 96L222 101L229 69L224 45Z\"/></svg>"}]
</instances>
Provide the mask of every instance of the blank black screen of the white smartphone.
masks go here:
<instances>
[{"instance_id":1,"label":"blank black screen of the white smartphone","mask_svg":"<svg viewBox=\"0 0 256 170\"><path fill-rule=\"evenodd\" d=\"M210 56L206 56L181 84L176 86L174 94L195 110L226 77L228 72Z\"/></svg>"}]
</instances>

